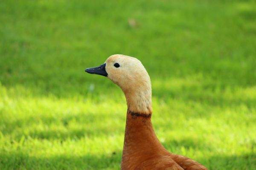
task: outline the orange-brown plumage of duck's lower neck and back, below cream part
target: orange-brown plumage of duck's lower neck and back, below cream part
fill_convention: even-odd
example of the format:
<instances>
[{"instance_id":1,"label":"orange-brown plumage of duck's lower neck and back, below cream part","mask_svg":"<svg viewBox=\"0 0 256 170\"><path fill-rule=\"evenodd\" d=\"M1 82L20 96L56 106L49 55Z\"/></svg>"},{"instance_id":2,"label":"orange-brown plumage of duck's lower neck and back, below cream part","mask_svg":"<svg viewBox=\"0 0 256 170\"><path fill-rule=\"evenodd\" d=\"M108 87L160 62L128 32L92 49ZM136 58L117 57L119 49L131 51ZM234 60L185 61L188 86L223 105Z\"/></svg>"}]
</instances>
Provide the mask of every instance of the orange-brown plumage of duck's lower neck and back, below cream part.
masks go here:
<instances>
[{"instance_id":1,"label":"orange-brown plumage of duck's lower neck and back, below cream part","mask_svg":"<svg viewBox=\"0 0 256 170\"><path fill-rule=\"evenodd\" d=\"M137 113L140 114L140 113ZM185 156L169 153L154 132L151 117L127 111L122 170L207 170Z\"/></svg>"}]
</instances>

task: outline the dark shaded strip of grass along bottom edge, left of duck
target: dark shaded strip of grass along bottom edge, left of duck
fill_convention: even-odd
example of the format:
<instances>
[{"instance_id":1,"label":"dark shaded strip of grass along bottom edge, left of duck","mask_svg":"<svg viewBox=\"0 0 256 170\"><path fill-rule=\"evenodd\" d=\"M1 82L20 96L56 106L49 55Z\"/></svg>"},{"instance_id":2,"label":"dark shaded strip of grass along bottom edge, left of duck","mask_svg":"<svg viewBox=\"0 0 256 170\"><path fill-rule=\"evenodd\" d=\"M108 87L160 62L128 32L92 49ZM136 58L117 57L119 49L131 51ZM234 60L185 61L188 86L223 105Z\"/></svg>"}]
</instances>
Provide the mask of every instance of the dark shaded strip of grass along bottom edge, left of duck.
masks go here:
<instances>
[{"instance_id":1,"label":"dark shaded strip of grass along bottom edge, left of duck","mask_svg":"<svg viewBox=\"0 0 256 170\"><path fill-rule=\"evenodd\" d=\"M118 170L122 153L113 151L109 155L74 156L56 155L36 157L24 152L0 152L1 170Z\"/></svg>"}]
</instances>

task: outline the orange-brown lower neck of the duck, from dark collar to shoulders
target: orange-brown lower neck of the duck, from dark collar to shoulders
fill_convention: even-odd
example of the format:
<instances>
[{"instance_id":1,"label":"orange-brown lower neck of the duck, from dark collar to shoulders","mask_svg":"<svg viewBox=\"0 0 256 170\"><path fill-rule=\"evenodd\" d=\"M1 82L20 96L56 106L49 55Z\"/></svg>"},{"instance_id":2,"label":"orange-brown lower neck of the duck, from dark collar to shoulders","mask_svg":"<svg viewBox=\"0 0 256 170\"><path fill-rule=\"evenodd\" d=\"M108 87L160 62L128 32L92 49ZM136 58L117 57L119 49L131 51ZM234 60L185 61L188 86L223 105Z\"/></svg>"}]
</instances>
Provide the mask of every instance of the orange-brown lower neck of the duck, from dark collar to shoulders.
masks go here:
<instances>
[{"instance_id":1,"label":"orange-brown lower neck of the duck, from dark collar to shoulders","mask_svg":"<svg viewBox=\"0 0 256 170\"><path fill-rule=\"evenodd\" d=\"M161 150L165 149L154 132L151 123L151 113L134 113L128 108L122 166L126 166L134 161L148 159L148 156L152 156Z\"/></svg>"}]
</instances>

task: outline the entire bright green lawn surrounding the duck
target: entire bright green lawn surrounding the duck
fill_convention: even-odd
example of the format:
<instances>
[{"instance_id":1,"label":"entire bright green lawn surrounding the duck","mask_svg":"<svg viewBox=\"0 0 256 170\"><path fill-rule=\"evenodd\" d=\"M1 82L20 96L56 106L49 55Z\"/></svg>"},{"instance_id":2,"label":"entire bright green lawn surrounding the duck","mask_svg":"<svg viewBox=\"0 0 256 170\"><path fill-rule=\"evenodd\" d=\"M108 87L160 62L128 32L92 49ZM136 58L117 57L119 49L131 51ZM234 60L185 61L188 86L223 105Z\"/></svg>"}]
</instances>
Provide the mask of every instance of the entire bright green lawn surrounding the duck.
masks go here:
<instances>
[{"instance_id":1,"label":"entire bright green lawn surrounding the duck","mask_svg":"<svg viewBox=\"0 0 256 170\"><path fill-rule=\"evenodd\" d=\"M84 73L111 54L148 70L152 122L169 151L209 170L255 170L255 9L253 0L2 0L0 170L119 169L125 97Z\"/></svg>"}]
</instances>

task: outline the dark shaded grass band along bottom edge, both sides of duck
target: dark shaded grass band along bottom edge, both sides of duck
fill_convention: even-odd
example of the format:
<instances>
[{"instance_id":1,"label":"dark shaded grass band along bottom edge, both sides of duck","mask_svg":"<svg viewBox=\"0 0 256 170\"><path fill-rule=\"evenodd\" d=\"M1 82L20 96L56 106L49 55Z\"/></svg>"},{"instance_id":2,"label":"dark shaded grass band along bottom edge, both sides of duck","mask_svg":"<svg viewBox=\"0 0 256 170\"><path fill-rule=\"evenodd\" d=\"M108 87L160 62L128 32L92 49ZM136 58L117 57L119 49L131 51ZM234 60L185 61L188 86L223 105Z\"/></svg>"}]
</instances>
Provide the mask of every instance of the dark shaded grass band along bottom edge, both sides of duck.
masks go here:
<instances>
[{"instance_id":1,"label":"dark shaded grass band along bottom edge, both sides of duck","mask_svg":"<svg viewBox=\"0 0 256 170\"><path fill-rule=\"evenodd\" d=\"M23 152L0 153L0 169L49 169L49 170L119 170L122 152L109 155L56 155L29 156ZM242 156L212 156L197 160L209 170L255 170L256 154ZM235 168L234 168L235 167Z\"/></svg>"}]
</instances>

